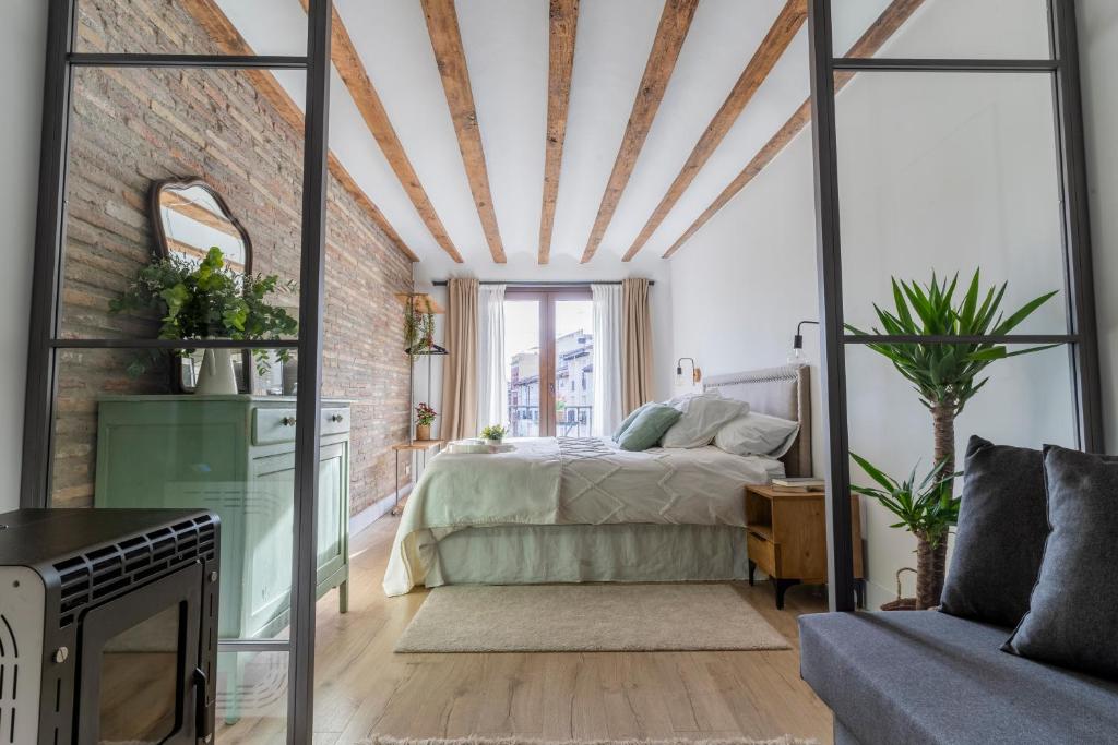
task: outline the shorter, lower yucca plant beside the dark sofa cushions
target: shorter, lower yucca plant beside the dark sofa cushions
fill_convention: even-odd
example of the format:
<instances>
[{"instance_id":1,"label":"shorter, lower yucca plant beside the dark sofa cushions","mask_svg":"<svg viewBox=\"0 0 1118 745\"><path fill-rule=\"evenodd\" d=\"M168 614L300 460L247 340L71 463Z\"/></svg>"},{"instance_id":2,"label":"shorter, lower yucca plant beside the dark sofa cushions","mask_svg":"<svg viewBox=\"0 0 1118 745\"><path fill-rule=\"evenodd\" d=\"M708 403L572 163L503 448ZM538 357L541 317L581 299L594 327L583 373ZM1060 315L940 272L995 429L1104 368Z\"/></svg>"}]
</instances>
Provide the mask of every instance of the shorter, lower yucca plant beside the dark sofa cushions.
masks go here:
<instances>
[{"instance_id":1,"label":"shorter, lower yucca plant beside the dark sofa cushions","mask_svg":"<svg viewBox=\"0 0 1118 745\"><path fill-rule=\"evenodd\" d=\"M939 604L944 586L947 536L959 518L959 498L951 494L951 480L958 476L945 469L946 462L932 468L917 484L919 464L903 481L885 475L855 453L850 457L878 486L852 486L855 494L870 497L897 516L890 527L902 527L916 536L916 606ZM936 590L939 588L939 590Z\"/></svg>"}]
</instances>

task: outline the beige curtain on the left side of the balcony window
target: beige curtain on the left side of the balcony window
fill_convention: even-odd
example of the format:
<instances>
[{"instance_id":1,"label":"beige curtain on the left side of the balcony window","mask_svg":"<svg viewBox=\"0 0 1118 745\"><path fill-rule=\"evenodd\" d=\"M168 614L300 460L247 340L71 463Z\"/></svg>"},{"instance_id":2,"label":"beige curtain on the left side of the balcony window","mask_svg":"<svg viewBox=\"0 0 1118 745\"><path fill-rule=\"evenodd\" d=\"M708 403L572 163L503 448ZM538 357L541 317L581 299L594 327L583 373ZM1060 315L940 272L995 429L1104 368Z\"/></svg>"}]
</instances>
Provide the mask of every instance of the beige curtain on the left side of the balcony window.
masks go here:
<instances>
[{"instance_id":1,"label":"beige curtain on the left side of the balcony window","mask_svg":"<svg viewBox=\"0 0 1118 745\"><path fill-rule=\"evenodd\" d=\"M477 280L451 279L446 290L440 437L461 440L477 436Z\"/></svg>"}]
</instances>

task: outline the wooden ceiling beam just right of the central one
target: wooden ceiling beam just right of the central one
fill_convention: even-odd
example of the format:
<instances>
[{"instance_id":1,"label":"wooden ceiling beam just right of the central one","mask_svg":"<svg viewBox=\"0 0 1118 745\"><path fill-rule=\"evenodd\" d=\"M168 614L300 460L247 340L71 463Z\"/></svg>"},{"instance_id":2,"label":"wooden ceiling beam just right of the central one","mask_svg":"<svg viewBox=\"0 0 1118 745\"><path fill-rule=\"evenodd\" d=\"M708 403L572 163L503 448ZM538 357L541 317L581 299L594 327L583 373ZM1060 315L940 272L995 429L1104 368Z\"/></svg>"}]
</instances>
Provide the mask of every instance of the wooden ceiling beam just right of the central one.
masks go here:
<instances>
[{"instance_id":1,"label":"wooden ceiling beam just right of the central one","mask_svg":"<svg viewBox=\"0 0 1118 745\"><path fill-rule=\"evenodd\" d=\"M633 111L629 113L628 125L625 127L625 136L622 139L617 160L614 161L614 170L609 174L606 192L601 197L598 216L590 229L586 250L582 251L582 264L594 258L606 235L606 229L609 227L609 221L613 220L617 204L620 202L625 187L628 184L634 166L636 166L636 160L641 155L641 149L652 128L652 122L656 117L656 109L660 108L660 102L664 98L664 90L667 89L667 82L675 69L675 61L680 57L680 49L683 48L683 41L686 39L698 7L699 0L666 0L664 2L660 27L656 29L656 38L652 42L652 52L648 55L644 77L641 78L641 86L637 88L636 101L633 102Z\"/></svg>"}]
</instances>

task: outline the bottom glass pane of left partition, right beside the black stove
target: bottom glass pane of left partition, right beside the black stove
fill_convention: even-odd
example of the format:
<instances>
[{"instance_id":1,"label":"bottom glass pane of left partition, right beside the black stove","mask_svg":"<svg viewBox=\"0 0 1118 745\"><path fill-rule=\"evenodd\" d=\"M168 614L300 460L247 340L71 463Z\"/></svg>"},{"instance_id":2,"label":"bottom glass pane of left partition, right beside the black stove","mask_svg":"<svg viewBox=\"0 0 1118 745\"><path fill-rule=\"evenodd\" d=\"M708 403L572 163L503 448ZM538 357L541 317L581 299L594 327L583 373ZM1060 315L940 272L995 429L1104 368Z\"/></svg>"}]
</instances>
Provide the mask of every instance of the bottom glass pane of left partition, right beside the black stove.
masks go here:
<instances>
[{"instance_id":1,"label":"bottom glass pane of left partition, right beside the black stove","mask_svg":"<svg viewBox=\"0 0 1118 745\"><path fill-rule=\"evenodd\" d=\"M287 655L218 652L217 742L284 743Z\"/></svg>"}]
</instances>

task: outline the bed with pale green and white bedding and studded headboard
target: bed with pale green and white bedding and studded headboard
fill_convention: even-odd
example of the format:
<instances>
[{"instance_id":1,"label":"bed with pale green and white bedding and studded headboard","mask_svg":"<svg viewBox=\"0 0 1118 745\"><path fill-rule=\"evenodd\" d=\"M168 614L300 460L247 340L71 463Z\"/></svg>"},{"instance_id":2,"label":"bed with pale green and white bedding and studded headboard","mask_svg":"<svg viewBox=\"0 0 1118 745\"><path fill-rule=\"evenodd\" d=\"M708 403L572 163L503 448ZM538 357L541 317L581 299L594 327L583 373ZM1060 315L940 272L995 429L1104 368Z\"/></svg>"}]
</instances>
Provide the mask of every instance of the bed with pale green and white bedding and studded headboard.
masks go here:
<instances>
[{"instance_id":1,"label":"bed with pale green and white bedding and studded headboard","mask_svg":"<svg viewBox=\"0 0 1118 745\"><path fill-rule=\"evenodd\" d=\"M707 391L799 422L779 460L713 446L626 452L608 439L440 453L404 509L383 588L741 580L742 488L812 470L808 369L710 378Z\"/></svg>"}]
</instances>

